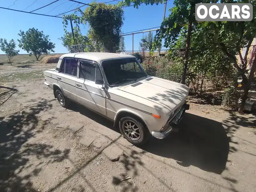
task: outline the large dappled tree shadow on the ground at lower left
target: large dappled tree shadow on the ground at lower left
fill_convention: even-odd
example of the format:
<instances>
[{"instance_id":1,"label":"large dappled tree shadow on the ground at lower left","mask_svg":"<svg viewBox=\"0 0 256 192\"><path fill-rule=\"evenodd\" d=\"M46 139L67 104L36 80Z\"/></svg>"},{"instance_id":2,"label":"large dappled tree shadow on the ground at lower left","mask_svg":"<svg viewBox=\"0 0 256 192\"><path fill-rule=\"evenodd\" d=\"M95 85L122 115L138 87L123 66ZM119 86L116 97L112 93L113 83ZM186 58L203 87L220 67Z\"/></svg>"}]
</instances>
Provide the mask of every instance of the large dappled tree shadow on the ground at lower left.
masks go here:
<instances>
[{"instance_id":1,"label":"large dappled tree shadow on the ground at lower left","mask_svg":"<svg viewBox=\"0 0 256 192\"><path fill-rule=\"evenodd\" d=\"M36 129L45 126L36 115L49 108L52 108L49 100L42 99L26 110L0 117L0 191L37 191L32 188L30 178L41 171L43 162L31 164L29 156L36 156L39 161L47 158L49 163L62 161L68 156L69 150L28 143L30 138L36 136ZM26 174L20 174L22 170L26 170Z\"/></svg>"}]
</instances>

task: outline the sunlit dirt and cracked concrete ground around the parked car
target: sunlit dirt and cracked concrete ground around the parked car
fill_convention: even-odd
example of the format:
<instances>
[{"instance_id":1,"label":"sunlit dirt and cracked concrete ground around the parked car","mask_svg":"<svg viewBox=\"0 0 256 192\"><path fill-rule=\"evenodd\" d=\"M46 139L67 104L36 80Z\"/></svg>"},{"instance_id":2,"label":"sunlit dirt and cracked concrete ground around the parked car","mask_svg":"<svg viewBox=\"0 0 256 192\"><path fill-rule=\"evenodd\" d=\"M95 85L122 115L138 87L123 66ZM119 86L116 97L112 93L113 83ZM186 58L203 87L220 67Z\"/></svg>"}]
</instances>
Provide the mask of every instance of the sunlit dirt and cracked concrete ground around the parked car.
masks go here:
<instances>
[{"instance_id":1,"label":"sunlit dirt and cracked concrete ground around the parked car","mask_svg":"<svg viewBox=\"0 0 256 192\"><path fill-rule=\"evenodd\" d=\"M138 148L111 121L62 108L43 76L10 79L0 86L0 191L256 191L255 115L191 103L178 132Z\"/></svg>"}]
</instances>

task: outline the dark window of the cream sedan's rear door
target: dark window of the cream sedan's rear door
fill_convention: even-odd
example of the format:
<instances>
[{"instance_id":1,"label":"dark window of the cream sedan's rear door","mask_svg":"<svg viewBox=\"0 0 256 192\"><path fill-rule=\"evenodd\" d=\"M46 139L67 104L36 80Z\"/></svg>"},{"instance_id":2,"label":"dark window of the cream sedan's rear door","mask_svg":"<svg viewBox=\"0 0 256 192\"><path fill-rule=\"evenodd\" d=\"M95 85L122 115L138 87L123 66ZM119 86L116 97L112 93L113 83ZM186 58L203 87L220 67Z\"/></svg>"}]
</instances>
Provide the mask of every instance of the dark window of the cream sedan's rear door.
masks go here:
<instances>
[{"instance_id":1,"label":"dark window of the cream sedan's rear door","mask_svg":"<svg viewBox=\"0 0 256 192\"><path fill-rule=\"evenodd\" d=\"M62 62L60 73L77 76L77 60L66 58Z\"/></svg>"}]
</instances>

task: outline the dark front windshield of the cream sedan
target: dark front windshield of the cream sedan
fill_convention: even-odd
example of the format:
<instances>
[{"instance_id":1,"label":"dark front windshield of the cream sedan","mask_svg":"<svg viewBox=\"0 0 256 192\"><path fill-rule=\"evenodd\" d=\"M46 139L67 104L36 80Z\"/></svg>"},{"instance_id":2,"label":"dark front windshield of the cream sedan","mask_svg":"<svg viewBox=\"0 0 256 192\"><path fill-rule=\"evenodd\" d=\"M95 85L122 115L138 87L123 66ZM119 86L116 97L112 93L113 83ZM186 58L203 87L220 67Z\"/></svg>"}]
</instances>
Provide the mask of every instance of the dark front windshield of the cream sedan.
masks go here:
<instances>
[{"instance_id":1,"label":"dark front windshield of the cream sedan","mask_svg":"<svg viewBox=\"0 0 256 192\"><path fill-rule=\"evenodd\" d=\"M136 58L102 61L102 67L110 86L137 80L148 75Z\"/></svg>"}]
</instances>

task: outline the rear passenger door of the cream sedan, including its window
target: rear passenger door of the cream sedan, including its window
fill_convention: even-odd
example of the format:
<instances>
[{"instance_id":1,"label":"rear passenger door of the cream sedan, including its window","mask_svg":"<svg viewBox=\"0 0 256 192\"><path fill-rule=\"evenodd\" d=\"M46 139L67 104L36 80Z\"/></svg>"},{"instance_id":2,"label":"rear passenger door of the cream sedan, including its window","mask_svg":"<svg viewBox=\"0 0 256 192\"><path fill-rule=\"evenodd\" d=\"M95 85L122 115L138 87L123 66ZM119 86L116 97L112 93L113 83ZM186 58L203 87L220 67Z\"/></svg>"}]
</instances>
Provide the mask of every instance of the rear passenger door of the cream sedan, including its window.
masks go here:
<instances>
[{"instance_id":1,"label":"rear passenger door of the cream sedan, including its window","mask_svg":"<svg viewBox=\"0 0 256 192\"><path fill-rule=\"evenodd\" d=\"M76 79L78 60L74 58L64 58L57 75L58 84L63 89L64 95L76 101Z\"/></svg>"}]
</instances>

